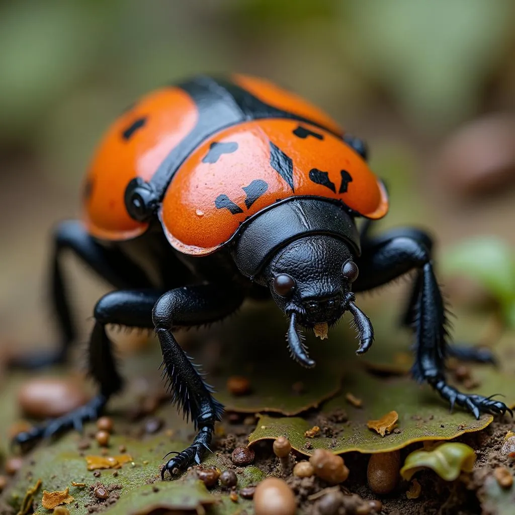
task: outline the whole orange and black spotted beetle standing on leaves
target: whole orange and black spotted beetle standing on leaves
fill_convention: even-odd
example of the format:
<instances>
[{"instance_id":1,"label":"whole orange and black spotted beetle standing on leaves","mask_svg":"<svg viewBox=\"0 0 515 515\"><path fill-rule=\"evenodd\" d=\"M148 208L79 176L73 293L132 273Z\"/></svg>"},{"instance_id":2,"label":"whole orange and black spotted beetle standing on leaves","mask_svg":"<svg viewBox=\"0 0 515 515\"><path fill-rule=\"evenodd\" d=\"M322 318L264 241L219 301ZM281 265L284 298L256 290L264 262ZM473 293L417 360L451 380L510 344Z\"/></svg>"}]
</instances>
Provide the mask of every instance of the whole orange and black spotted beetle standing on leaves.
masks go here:
<instances>
[{"instance_id":1,"label":"whole orange and black spotted beetle standing on leaves","mask_svg":"<svg viewBox=\"0 0 515 515\"><path fill-rule=\"evenodd\" d=\"M99 416L122 387L105 329L120 324L156 331L173 402L197 431L190 447L167 461L163 478L166 470L198 464L223 406L178 345L175 328L219 320L248 297L271 297L289 318L291 356L310 368L300 327L327 332L349 311L363 354L374 335L354 294L412 270L403 321L415 333L415 379L476 418L509 411L445 381L450 354L490 356L448 344L431 237L414 228L370 235L370 221L387 211L365 143L268 81L201 75L144 96L104 136L84 181L82 220L63 222L54 235L53 305L63 338L43 362L62 361L75 338L61 270L68 249L116 288L94 308L89 369L99 392L16 440L80 430ZM366 220L361 231L359 217Z\"/></svg>"}]
</instances>

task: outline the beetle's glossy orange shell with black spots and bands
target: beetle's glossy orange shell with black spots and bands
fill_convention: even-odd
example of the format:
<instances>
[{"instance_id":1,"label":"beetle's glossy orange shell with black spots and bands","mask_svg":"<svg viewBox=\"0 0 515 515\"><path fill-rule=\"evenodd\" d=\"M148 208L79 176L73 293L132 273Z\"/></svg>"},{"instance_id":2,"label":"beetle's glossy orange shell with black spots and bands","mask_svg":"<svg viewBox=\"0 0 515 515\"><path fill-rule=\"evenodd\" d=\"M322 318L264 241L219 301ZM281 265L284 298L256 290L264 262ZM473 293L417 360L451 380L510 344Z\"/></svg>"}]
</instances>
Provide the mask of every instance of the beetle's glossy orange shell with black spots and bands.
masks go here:
<instances>
[{"instance_id":1,"label":"beetle's glossy orange shell with black spots and bands","mask_svg":"<svg viewBox=\"0 0 515 515\"><path fill-rule=\"evenodd\" d=\"M150 221L127 197L138 184L170 244L192 255L214 252L250 217L293 197L381 218L384 187L343 136L323 111L262 79L198 76L162 88L107 131L85 180L85 224L102 240L142 235Z\"/></svg>"}]
</instances>

